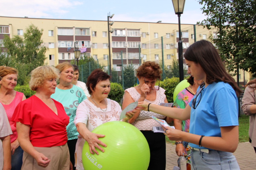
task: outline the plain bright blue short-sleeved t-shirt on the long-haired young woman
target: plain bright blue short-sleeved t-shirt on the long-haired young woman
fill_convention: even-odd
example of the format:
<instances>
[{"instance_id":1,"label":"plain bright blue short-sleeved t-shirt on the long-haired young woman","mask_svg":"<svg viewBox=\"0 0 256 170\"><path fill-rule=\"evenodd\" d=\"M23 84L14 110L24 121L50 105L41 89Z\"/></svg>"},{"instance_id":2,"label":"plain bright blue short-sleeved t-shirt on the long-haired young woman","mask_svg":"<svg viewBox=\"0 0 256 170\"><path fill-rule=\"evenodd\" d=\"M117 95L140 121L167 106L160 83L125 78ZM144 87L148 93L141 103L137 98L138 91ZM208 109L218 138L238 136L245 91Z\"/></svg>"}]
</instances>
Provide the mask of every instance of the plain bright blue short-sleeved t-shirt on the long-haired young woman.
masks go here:
<instances>
[{"instance_id":1,"label":"plain bright blue short-sleeved t-shirt on the long-haired young woman","mask_svg":"<svg viewBox=\"0 0 256 170\"><path fill-rule=\"evenodd\" d=\"M190 107L193 99L189 102ZM197 96L195 105L196 109L191 107L190 112L189 132L192 134L221 137L220 127L238 126L238 100L228 83L209 84ZM191 147L205 148L189 144Z\"/></svg>"}]
</instances>

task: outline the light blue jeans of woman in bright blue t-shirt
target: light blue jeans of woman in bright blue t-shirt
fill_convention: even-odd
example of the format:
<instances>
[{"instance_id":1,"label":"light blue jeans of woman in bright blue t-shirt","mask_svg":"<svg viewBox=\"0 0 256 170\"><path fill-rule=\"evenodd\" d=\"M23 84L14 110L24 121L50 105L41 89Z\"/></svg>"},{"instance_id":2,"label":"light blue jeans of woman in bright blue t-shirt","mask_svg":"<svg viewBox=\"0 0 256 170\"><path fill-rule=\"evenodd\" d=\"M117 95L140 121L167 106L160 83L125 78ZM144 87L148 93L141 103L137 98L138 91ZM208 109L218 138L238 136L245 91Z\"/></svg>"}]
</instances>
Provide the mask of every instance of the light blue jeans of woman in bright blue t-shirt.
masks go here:
<instances>
[{"instance_id":1,"label":"light blue jeans of woman in bright blue t-shirt","mask_svg":"<svg viewBox=\"0 0 256 170\"><path fill-rule=\"evenodd\" d=\"M209 150L209 154L191 150L191 170L239 170L238 163L230 152Z\"/></svg>"}]
</instances>

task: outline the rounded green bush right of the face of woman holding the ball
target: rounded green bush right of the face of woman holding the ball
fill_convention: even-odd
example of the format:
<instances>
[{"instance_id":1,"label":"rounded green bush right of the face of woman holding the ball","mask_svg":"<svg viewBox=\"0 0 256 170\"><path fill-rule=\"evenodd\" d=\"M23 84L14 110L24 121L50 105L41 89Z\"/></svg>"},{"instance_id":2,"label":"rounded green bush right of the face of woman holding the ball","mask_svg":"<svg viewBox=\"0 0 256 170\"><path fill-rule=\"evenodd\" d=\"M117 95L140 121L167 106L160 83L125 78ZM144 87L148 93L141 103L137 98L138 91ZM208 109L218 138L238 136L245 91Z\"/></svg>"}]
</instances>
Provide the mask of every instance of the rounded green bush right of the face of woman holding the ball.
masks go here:
<instances>
[{"instance_id":1,"label":"rounded green bush right of the face of woman holding the ball","mask_svg":"<svg viewBox=\"0 0 256 170\"><path fill-rule=\"evenodd\" d=\"M124 90L122 85L119 83L110 83L110 92L108 94L108 98L111 100L115 100L116 102L120 102L123 98Z\"/></svg>"}]
</instances>

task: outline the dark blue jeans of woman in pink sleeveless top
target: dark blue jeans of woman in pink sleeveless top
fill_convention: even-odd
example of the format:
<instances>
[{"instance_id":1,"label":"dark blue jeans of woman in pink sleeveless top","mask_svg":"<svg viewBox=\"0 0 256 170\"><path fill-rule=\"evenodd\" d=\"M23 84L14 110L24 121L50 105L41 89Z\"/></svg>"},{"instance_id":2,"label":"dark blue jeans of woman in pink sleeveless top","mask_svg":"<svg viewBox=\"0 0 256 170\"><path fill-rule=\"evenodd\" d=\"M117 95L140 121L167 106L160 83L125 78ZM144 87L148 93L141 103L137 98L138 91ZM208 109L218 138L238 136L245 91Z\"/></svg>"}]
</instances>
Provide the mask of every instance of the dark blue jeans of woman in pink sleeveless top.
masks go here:
<instances>
[{"instance_id":1,"label":"dark blue jeans of woman in pink sleeveless top","mask_svg":"<svg viewBox=\"0 0 256 170\"><path fill-rule=\"evenodd\" d=\"M11 156L11 170L21 170L23 150L21 146L17 147Z\"/></svg>"}]
</instances>

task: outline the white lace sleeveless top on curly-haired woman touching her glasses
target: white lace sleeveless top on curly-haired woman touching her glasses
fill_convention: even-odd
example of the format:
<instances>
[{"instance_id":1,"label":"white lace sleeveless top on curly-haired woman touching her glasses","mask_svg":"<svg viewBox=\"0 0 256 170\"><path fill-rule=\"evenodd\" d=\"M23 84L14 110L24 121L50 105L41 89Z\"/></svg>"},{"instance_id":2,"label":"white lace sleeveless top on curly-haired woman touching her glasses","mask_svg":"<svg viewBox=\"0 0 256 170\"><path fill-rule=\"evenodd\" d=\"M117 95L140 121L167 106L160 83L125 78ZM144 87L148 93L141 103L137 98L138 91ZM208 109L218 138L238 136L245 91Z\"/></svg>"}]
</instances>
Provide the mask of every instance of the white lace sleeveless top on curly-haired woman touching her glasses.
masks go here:
<instances>
[{"instance_id":1,"label":"white lace sleeveless top on curly-haired woman touching her glasses","mask_svg":"<svg viewBox=\"0 0 256 170\"><path fill-rule=\"evenodd\" d=\"M158 88L158 86L155 86L155 88ZM125 92L128 92L134 101L138 101L140 94L137 92L137 90L134 87L126 89ZM147 99L145 99L145 101L152 104L157 104L157 105L159 105L160 103L164 103L164 99L166 97L164 92L165 90L160 87L159 90L156 91L156 99L154 101L149 101ZM161 126L154 119L152 119L151 116L154 116L159 119L165 119L166 117L154 112L140 111L139 116L132 123L132 125L137 127L139 130L152 130L152 127L154 126Z\"/></svg>"}]
</instances>

